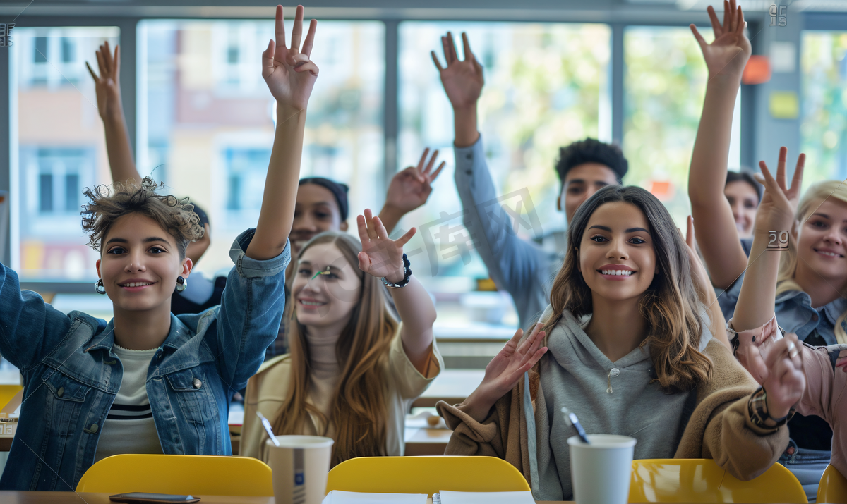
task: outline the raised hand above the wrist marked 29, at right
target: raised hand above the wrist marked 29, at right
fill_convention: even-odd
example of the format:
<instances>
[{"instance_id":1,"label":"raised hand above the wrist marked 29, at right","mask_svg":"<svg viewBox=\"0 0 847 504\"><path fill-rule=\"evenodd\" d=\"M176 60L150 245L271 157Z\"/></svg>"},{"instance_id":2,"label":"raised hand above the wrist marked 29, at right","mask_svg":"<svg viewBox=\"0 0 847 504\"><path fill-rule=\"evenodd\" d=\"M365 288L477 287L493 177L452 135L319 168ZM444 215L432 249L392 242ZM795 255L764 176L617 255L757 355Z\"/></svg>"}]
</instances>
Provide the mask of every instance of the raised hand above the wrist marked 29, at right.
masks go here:
<instances>
[{"instance_id":1,"label":"raised hand above the wrist marked 29, at right","mask_svg":"<svg viewBox=\"0 0 847 504\"><path fill-rule=\"evenodd\" d=\"M797 157L790 189L785 187L785 162L788 154L787 148L779 149L777 178L772 177L765 162L759 162L761 175L756 173L756 179L765 185L765 193L762 194L759 209L756 211L756 229L788 230L794 222L794 212L800 200L800 186L803 184L805 154Z\"/></svg>"}]
</instances>

